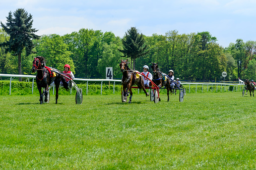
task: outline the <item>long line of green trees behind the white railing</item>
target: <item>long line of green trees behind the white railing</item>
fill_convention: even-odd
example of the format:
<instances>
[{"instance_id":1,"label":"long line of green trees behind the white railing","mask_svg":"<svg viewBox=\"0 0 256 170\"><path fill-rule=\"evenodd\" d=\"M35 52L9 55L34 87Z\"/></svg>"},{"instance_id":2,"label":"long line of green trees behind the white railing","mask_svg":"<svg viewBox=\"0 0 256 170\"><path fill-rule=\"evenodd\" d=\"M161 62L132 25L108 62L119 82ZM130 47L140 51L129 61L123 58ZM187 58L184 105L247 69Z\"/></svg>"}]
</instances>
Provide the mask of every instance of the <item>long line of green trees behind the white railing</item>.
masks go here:
<instances>
[{"instance_id":1,"label":"long line of green trees behind the white railing","mask_svg":"<svg viewBox=\"0 0 256 170\"><path fill-rule=\"evenodd\" d=\"M18 9L20 10L20 9ZM17 10L17 11L18 11ZM23 13L33 21L24 9ZM16 14L16 13L15 13ZM26 17L25 15L25 17ZM22 18L19 13L12 17ZM10 24L1 22L0 29L0 72L2 74L31 75L34 57L46 58L46 65L63 70L65 64L70 64L77 78L105 78L105 68L113 68L113 78L121 78L119 63L121 59L129 59L131 68L143 71L143 66L158 63L162 72L174 71L174 76L188 81L220 81L221 73L227 72L227 81L240 79L256 79L256 42L243 42L237 39L223 48L217 43L217 38L209 32L179 34L177 30L168 31L165 35L153 34L145 36L135 27L125 32L123 38L112 32L103 33L100 30L80 29L78 32L59 36L57 34L34 35L32 23L28 27L29 39L11 34ZM16 26L19 27L19 26ZM21 27L24 29L24 26ZM26 28L26 27L25 27ZM9 30L8 30L9 29ZM7 30L7 31L6 31ZM12 49L13 40L22 42L19 51ZM31 42L30 42L31 41ZM9 43L9 44L8 44ZM13 43L13 42L12 42ZM12 47L12 48L10 48ZM19 55L20 54L20 55ZM20 63L20 65L19 65ZM21 67L21 69L19 69ZM21 71L21 73L19 72Z\"/></svg>"}]
</instances>

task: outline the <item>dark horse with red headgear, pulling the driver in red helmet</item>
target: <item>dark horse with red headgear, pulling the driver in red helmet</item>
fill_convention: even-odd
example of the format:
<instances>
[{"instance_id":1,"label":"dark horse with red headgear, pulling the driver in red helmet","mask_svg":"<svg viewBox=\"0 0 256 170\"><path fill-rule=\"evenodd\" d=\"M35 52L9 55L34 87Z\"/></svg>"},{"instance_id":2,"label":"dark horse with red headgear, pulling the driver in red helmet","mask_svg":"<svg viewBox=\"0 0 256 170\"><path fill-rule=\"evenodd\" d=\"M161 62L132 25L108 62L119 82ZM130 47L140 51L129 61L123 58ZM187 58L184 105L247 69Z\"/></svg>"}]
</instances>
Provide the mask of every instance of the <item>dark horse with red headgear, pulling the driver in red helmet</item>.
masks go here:
<instances>
[{"instance_id":1,"label":"dark horse with red headgear, pulling the driver in red helmet","mask_svg":"<svg viewBox=\"0 0 256 170\"><path fill-rule=\"evenodd\" d=\"M45 67L46 67L46 65L45 65L45 60L44 60L43 57L38 56L38 57L34 58L32 73L35 73L37 71L36 84L37 84L37 89L38 89L39 94L40 94L39 101L40 101L40 104L43 103L43 95L42 95L42 89L41 88L45 88L46 90L44 91L44 95L45 95L44 102L47 102L47 95L48 95L49 85L54 80L55 87L56 87L55 99L56 99L56 104L57 104L58 88L59 88L59 83L61 81L61 76L59 74L56 74L55 77L51 77L49 70Z\"/></svg>"}]
</instances>

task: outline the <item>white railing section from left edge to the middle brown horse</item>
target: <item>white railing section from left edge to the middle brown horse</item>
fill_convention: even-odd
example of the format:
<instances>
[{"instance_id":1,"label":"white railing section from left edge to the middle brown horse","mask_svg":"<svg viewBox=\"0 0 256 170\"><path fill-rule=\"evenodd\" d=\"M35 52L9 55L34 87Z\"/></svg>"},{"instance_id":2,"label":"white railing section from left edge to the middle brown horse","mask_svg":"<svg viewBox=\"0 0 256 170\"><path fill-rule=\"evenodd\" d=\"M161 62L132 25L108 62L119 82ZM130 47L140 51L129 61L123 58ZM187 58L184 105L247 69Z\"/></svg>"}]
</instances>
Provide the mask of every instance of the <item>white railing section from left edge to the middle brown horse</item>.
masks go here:
<instances>
[{"instance_id":1,"label":"white railing section from left edge to the middle brown horse","mask_svg":"<svg viewBox=\"0 0 256 170\"><path fill-rule=\"evenodd\" d=\"M9 94L11 95L11 88L12 88L12 78L13 77L24 77L24 78L33 78L32 80L32 94L34 92L34 79L36 78L36 76L31 76L31 75L16 75L16 74L0 74L0 77L11 77L10 78L10 92ZM101 89L100 89L100 94L102 95L102 83L103 81L108 81L108 82L114 82L114 87L113 87L113 93L115 94L115 82L121 82L121 80L111 80L111 79L78 79L75 78L74 81L87 81L87 85L86 85L86 94L88 93L88 82L89 81L99 81L101 82ZM70 91L71 92L71 91ZM53 94L54 94L54 88L53 88Z\"/></svg>"}]
</instances>

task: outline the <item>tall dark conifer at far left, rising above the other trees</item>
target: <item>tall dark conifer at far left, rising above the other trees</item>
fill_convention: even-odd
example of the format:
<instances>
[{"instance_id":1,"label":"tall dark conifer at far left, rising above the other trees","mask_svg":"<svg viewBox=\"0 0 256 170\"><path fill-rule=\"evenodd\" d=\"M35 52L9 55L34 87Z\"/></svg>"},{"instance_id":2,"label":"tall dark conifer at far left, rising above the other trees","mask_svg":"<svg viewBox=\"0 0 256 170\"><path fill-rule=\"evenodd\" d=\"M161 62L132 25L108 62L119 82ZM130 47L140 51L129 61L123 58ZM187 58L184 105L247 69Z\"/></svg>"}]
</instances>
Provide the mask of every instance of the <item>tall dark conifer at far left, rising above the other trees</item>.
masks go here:
<instances>
[{"instance_id":1,"label":"tall dark conifer at far left, rising above the other trees","mask_svg":"<svg viewBox=\"0 0 256 170\"><path fill-rule=\"evenodd\" d=\"M39 36L34 34L38 30L32 29L32 24L32 15L28 15L24 9L16 10L13 15L12 12L10 12L7 17L6 25L1 22L3 30L10 35L10 39L0 44L0 46L7 47L6 50L8 52L14 56L18 56L19 74L22 74L21 53L23 49L26 49L26 55L28 56L34 47L32 40L39 39Z\"/></svg>"}]
</instances>

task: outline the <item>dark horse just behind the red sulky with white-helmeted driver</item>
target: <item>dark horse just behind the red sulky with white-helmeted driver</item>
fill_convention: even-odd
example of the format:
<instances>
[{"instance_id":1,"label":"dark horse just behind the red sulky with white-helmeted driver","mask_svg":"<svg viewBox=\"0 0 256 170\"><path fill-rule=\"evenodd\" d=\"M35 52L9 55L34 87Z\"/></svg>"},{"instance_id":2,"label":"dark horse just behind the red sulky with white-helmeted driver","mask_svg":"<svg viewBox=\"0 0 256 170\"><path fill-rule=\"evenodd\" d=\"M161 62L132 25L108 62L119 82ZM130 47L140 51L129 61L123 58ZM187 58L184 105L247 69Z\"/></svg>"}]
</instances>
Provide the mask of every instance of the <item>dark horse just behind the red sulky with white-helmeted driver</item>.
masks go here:
<instances>
[{"instance_id":1,"label":"dark horse just behind the red sulky with white-helmeted driver","mask_svg":"<svg viewBox=\"0 0 256 170\"><path fill-rule=\"evenodd\" d=\"M159 87L166 87L167 89L167 96L168 99L167 101L169 101L169 91L171 90L171 85L170 85L170 80L167 78L167 75L165 73L162 73L159 69L158 69L158 63L152 63L152 70L153 70L153 82ZM160 101L160 98L159 98Z\"/></svg>"}]
</instances>

